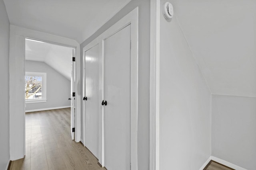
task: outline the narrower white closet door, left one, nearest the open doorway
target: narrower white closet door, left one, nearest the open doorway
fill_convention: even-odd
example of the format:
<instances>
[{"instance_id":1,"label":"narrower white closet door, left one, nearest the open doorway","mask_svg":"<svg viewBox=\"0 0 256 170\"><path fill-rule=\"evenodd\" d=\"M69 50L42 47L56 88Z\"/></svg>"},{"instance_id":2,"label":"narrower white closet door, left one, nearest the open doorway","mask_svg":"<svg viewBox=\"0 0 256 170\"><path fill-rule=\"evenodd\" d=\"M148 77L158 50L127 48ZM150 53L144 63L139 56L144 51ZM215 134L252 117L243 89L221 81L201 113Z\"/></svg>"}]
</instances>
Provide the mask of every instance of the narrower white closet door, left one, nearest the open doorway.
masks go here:
<instances>
[{"instance_id":1,"label":"narrower white closet door, left one, nearest the open doorway","mask_svg":"<svg viewBox=\"0 0 256 170\"><path fill-rule=\"evenodd\" d=\"M96 45L85 52L85 141L84 145L98 158L98 48Z\"/></svg>"}]
</instances>

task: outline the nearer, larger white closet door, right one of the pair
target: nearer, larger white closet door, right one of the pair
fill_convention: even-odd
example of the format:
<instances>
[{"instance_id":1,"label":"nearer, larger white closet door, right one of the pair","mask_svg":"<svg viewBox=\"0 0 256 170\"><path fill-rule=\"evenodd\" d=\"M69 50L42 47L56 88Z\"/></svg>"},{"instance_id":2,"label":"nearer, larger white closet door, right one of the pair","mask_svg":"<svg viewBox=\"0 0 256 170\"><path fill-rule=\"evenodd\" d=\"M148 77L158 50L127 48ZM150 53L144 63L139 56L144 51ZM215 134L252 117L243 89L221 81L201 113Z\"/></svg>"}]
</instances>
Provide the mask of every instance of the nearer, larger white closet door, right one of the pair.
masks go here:
<instances>
[{"instance_id":1,"label":"nearer, larger white closet door, right one of the pair","mask_svg":"<svg viewBox=\"0 0 256 170\"><path fill-rule=\"evenodd\" d=\"M104 158L108 170L130 170L130 25L104 41Z\"/></svg>"}]
</instances>

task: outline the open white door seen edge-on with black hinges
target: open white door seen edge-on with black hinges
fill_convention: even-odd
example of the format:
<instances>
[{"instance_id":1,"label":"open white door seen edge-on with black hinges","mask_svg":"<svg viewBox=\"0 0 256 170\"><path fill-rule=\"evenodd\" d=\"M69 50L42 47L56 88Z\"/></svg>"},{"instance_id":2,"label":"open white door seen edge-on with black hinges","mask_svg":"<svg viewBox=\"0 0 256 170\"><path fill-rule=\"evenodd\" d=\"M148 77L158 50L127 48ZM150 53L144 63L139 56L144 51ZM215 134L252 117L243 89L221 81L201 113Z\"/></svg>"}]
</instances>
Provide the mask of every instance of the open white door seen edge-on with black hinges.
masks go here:
<instances>
[{"instance_id":1,"label":"open white door seen edge-on with black hinges","mask_svg":"<svg viewBox=\"0 0 256 170\"><path fill-rule=\"evenodd\" d=\"M75 49L72 49L72 62L71 62L71 118L70 118L70 128L71 128L71 138L74 140L74 135L75 132L73 128L75 128L75 111L76 111L76 106L75 106L75 94L73 95L73 92L75 92L75 70L76 70L76 64L75 61L73 61L73 57L76 57L75 54Z\"/></svg>"}]
</instances>

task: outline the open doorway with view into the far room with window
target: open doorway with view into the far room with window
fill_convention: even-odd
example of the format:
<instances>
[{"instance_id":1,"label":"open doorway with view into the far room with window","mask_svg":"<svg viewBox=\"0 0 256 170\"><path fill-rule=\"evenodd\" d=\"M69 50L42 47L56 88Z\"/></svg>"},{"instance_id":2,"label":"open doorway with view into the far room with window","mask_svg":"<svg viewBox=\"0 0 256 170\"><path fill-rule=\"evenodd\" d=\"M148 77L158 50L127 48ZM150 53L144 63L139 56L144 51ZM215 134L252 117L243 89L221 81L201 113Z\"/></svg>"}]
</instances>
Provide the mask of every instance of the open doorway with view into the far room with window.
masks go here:
<instances>
[{"instance_id":1,"label":"open doorway with view into the far room with window","mask_svg":"<svg viewBox=\"0 0 256 170\"><path fill-rule=\"evenodd\" d=\"M74 140L74 59L74 47L25 39L24 166L37 169L39 157L48 166L51 151Z\"/></svg>"}]
</instances>

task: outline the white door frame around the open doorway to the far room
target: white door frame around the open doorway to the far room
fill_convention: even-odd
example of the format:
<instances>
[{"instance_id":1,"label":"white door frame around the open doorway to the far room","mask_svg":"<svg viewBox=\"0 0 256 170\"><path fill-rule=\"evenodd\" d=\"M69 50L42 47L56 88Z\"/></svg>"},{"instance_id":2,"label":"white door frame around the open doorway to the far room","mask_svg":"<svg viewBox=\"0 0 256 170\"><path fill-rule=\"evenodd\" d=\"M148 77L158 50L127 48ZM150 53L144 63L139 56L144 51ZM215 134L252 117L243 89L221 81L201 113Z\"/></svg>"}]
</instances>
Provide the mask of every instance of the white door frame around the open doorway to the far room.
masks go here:
<instances>
[{"instance_id":1,"label":"white door frame around the open doorway to the far room","mask_svg":"<svg viewBox=\"0 0 256 170\"><path fill-rule=\"evenodd\" d=\"M26 154L25 141L25 39L34 39L76 49L76 131L75 141L80 141L80 45L72 40L57 35L43 33L31 29L10 25L10 160L24 158Z\"/></svg>"}]
</instances>

